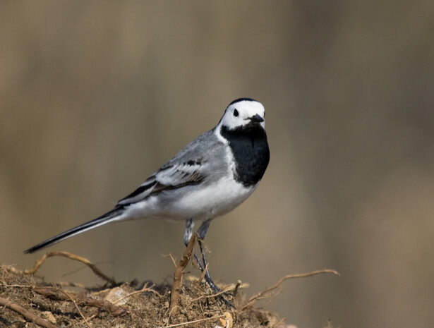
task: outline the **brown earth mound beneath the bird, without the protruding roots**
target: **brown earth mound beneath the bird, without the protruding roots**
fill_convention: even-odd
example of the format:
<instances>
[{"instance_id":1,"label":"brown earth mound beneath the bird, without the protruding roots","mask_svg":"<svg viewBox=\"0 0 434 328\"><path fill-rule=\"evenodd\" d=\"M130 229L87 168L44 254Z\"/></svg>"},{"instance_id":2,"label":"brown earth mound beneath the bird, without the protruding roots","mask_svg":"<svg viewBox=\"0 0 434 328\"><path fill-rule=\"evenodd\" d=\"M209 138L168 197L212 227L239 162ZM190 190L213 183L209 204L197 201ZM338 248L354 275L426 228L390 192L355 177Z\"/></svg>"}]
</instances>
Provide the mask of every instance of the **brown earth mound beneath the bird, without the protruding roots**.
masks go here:
<instances>
[{"instance_id":1,"label":"brown earth mound beneath the bird, without the protruding roots","mask_svg":"<svg viewBox=\"0 0 434 328\"><path fill-rule=\"evenodd\" d=\"M77 259L74 259L77 260ZM42 261L43 262L43 261ZM40 264L42 264L42 262ZM36 269L37 270L37 269ZM33 270L33 271L36 271ZM95 272L95 271L94 271ZM110 284L85 288L44 282L32 270L0 266L0 327L277 327L283 320L246 300L240 286L228 308L200 278L184 276L178 309L170 310L171 286ZM171 313L177 312L176 316Z\"/></svg>"}]
</instances>

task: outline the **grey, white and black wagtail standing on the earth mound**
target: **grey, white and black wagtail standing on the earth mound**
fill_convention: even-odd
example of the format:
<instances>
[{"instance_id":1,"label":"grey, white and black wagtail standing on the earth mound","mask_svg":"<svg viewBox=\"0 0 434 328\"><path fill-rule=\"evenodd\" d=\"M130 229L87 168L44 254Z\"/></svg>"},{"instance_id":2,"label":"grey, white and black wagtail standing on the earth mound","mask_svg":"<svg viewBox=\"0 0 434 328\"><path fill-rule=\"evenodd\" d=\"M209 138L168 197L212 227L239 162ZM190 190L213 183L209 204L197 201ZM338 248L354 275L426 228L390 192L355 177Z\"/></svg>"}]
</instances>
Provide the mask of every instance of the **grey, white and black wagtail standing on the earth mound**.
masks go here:
<instances>
[{"instance_id":1,"label":"grey, white and black wagtail standing on the earth mound","mask_svg":"<svg viewBox=\"0 0 434 328\"><path fill-rule=\"evenodd\" d=\"M236 99L215 128L189 143L110 212L42 241L25 253L102 224L129 219L186 220L185 245L195 221L202 221L197 232L203 240L212 219L227 214L253 193L269 160L263 105L250 98ZM196 255L195 259L203 271L207 262L201 241L199 245L203 263ZM207 271L205 279L219 291Z\"/></svg>"}]
</instances>

